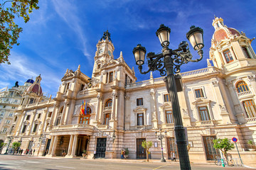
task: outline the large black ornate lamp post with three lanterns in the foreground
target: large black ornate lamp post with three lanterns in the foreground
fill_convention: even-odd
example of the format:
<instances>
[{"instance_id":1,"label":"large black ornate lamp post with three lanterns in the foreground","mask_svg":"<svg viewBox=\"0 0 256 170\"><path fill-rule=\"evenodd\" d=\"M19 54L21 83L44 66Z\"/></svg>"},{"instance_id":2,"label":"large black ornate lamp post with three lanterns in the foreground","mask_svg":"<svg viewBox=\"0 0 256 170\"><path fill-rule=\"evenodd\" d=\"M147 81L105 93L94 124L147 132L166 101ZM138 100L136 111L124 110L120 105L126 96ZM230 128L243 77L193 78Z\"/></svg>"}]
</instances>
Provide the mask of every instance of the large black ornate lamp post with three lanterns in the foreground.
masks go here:
<instances>
[{"instance_id":1,"label":"large black ornate lamp post with three lanterns in the foreground","mask_svg":"<svg viewBox=\"0 0 256 170\"><path fill-rule=\"evenodd\" d=\"M142 45L137 45L132 51L136 64L139 65L139 72L146 74L150 71L159 70L161 76L166 76L166 89L169 92L171 98L171 106L174 113L174 125L176 134L176 143L178 147L178 156L181 169L191 169L191 165L188 158L188 150L186 147L186 136L181 119L181 110L178 104L178 94L176 87L176 73L181 71L181 64L188 62L198 62L203 59L203 30L201 28L191 26L186 38L191 42L194 50L198 51L199 59L192 60L192 55L188 47L188 42L182 41L178 45L178 49L169 49L169 35L171 29L161 24L160 28L156 31L156 35L161 42L162 53L155 55L154 52L149 52L146 55L146 48ZM142 72L142 64L144 64L145 55L148 62L149 69L146 72ZM181 86L181 84L180 84ZM182 91L181 89L178 89Z\"/></svg>"}]
</instances>

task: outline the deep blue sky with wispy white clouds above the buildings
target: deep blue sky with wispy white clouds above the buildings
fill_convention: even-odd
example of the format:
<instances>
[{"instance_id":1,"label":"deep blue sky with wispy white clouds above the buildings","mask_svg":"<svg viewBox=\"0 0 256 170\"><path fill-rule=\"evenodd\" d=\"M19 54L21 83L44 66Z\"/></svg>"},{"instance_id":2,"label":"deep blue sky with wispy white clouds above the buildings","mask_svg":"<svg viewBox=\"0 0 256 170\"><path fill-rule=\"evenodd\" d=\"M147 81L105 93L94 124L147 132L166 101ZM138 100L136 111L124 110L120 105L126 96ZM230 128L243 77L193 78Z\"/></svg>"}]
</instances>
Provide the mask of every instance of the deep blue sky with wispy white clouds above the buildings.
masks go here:
<instances>
[{"instance_id":1,"label":"deep blue sky with wispy white clouds above the buildings","mask_svg":"<svg viewBox=\"0 0 256 170\"><path fill-rule=\"evenodd\" d=\"M1 1L1 0L0 0ZM256 36L256 1L135 1L135 0L39 0L40 9L31 13L28 23L17 20L23 28L9 60L11 65L0 65L0 89L20 85L41 74L41 86L46 96L55 96L66 69L76 70L78 64L88 77L96 44L109 30L114 44L114 58L122 51L129 67L134 67L137 81L149 79L139 73L132 50L138 43L147 52L161 52L156 30L161 23L171 28L170 45L178 47L186 40L190 26L204 30L204 58L198 63L184 64L181 72L201 69L209 57L211 25L214 15L224 19L226 26L245 32L248 38ZM192 47L190 46L192 49ZM252 41L256 49L256 40ZM193 51L193 50L191 50ZM193 52L194 58L198 55ZM146 69L146 65L144 66ZM154 72L154 77L160 77Z\"/></svg>"}]
</instances>

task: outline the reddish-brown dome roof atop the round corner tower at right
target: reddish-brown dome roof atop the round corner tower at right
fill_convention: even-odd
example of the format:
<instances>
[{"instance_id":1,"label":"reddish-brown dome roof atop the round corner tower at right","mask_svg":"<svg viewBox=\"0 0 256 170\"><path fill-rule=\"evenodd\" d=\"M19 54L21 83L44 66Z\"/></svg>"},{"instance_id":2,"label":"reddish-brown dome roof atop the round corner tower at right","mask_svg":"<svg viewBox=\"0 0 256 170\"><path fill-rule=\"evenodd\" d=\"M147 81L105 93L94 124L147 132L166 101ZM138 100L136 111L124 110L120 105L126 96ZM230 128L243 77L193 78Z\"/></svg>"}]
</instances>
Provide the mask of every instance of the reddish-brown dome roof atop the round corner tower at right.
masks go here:
<instances>
[{"instance_id":1,"label":"reddish-brown dome roof atop the round corner tower at right","mask_svg":"<svg viewBox=\"0 0 256 170\"><path fill-rule=\"evenodd\" d=\"M213 39L215 41L220 41L224 40L225 38L229 38L230 35L228 35L228 32L230 32L230 35L240 35L238 30L235 30L234 28L220 28L219 30L216 30L215 33L213 34Z\"/></svg>"}]
</instances>

